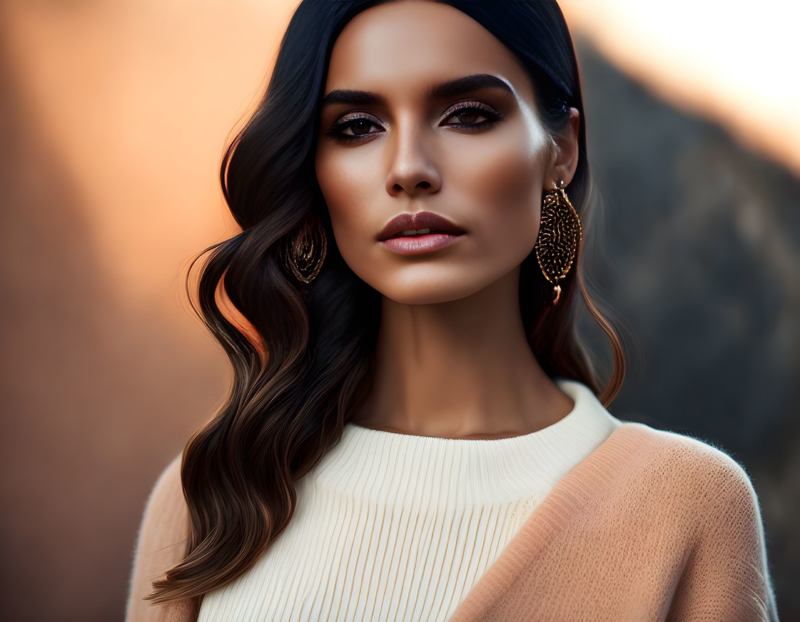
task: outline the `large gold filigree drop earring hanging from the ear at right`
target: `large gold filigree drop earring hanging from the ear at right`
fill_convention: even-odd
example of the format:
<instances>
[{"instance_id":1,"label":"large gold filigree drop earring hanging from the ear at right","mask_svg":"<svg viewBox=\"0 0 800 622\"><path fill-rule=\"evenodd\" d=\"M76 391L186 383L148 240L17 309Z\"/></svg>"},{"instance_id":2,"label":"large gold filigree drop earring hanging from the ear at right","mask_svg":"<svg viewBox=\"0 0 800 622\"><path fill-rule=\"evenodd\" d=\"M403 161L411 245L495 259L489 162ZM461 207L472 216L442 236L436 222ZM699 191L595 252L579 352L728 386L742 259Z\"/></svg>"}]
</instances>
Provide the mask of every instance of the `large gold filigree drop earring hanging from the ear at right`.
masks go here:
<instances>
[{"instance_id":1,"label":"large gold filigree drop earring hanging from the ear at right","mask_svg":"<svg viewBox=\"0 0 800 622\"><path fill-rule=\"evenodd\" d=\"M554 181L553 189L545 195L539 235L534 246L542 273L554 285L554 305L558 305L561 297L561 285L558 285L558 281L570 271L583 236L578 213L566 197L563 185L563 180L560 185L556 185Z\"/></svg>"}]
</instances>

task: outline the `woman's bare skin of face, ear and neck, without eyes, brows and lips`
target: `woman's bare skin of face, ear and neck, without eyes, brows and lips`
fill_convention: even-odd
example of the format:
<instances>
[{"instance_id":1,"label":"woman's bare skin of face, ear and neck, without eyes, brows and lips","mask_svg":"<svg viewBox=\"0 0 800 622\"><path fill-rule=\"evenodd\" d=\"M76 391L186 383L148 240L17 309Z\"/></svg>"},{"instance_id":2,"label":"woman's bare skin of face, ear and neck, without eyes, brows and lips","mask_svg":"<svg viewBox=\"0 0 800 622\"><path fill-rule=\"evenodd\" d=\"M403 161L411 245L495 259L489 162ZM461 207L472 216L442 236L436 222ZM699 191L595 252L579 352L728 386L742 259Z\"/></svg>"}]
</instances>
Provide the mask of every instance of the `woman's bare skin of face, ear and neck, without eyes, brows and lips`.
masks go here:
<instances>
[{"instance_id":1,"label":"woman's bare skin of face, ear and neck, without eyes, brows and lips","mask_svg":"<svg viewBox=\"0 0 800 622\"><path fill-rule=\"evenodd\" d=\"M440 100L438 82L490 74L511 87ZM315 168L342 257L382 293L374 385L350 421L394 433L494 439L532 433L574 403L530 350L519 311L520 264L538 236L542 191L578 165L578 110L547 138L534 85L518 59L451 6L395 0L356 15L334 43L325 94L366 90L382 105L322 109ZM454 104L481 111L453 114ZM354 114L358 113L358 114ZM343 117L360 117L327 134ZM568 188L567 188L568 190ZM376 241L399 213L430 211L466 234L433 253L402 256ZM324 267L323 267L324 269ZM542 277L544 278L544 277Z\"/></svg>"}]
</instances>

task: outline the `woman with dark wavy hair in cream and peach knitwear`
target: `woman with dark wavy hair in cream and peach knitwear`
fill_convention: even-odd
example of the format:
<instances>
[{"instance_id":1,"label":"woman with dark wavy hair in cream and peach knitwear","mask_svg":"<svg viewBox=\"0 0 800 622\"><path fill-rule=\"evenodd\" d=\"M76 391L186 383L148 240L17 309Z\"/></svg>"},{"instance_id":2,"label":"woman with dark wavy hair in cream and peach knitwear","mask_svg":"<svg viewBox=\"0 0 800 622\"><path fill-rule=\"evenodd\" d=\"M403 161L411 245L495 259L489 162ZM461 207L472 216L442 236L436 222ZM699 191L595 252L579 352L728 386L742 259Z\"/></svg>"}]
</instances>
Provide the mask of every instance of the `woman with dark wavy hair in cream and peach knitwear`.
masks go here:
<instances>
[{"instance_id":1,"label":"woman with dark wavy hair in cream and peach knitwear","mask_svg":"<svg viewBox=\"0 0 800 622\"><path fill-rule=\"evenodd\" d=\"M128 620L777 620L746 472L606 410L582 110L555 2L298 6L200 282L234 387Z\"/></svg>"}]
</instances>

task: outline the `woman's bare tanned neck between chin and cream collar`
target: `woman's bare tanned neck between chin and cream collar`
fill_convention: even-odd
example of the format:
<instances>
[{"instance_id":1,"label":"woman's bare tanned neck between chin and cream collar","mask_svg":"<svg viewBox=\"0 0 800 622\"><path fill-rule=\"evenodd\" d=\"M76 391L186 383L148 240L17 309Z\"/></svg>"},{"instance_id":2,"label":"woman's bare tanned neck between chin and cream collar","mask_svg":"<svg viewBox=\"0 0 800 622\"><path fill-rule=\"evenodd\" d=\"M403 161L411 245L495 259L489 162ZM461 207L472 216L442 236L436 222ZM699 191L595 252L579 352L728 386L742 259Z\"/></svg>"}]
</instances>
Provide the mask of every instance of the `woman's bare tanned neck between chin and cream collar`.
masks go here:
<instances>
[{"instance_id":1,"label":"woman's bare tanned neck between chin and cream collar","mask_svg":"<svg viewBox=\"0 0 800 622\"><path fill-rule=\"evenodd\" d=\"M454 301L383 297L372 389L350 421L418 436L504 438L566 417L574 403L530 350L518 282L519 268Z\"/></svg>"}]
</instances>

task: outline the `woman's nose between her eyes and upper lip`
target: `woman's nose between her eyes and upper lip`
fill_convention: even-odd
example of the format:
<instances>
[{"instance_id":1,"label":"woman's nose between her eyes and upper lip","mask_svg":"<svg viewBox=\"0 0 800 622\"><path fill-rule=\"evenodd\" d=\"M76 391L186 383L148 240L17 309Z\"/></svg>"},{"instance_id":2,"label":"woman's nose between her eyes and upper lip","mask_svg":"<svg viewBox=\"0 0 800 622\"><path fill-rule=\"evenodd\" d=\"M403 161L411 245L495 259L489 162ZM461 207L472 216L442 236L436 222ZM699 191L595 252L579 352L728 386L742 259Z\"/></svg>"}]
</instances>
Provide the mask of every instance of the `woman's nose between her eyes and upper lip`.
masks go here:
<instances>
[{"instance_id":1,"label":"woman's nose between her eyes and upper lip","mask_svg":"<svg viewBox=\"0 0 800 622\"><path fill-rule=\"evenodd\" d=\"M386 141L390 166L386 192L398 196L434 193L442 185L442 176L431 156L432 137L418 123L406 121L395 125L394 135Z\"/></svg>"}]
</instances>

